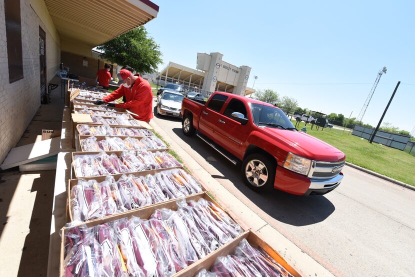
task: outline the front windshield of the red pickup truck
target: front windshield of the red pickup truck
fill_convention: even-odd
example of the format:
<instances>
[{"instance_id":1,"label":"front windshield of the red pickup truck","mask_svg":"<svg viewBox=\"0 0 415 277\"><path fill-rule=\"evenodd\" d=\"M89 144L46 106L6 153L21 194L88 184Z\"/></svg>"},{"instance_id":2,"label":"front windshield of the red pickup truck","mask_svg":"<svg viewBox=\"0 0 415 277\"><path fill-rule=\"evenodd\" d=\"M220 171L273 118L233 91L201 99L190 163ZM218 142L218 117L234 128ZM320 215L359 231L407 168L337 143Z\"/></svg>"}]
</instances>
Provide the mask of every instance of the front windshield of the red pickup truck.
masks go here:
<instances>
[{"instance_id":1,"label":"front windshield of the red pickup truck","mask_svg":"<svg viewBox=\"0 0 415 277\"><path fill-rule=\"evenodd\" d=\"M291 121L279 108L256 103L250 103L249 106L255 125L275 127L279 126L282 129L295 129Z\"/></svg>"}]
</instances>

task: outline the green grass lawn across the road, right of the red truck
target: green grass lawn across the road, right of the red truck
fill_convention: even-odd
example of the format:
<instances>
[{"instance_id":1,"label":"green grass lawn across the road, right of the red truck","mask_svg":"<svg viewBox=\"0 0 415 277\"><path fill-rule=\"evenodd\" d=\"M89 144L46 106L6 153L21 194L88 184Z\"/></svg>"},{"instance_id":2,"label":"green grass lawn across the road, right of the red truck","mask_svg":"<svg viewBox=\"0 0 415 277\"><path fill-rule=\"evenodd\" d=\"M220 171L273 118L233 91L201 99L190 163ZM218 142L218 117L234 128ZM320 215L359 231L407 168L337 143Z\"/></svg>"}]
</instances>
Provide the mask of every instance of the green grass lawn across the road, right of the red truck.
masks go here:
<instances>
[{"instance_id":1,"label":"green grass lawn across the road, right of the red truck","mask_svg":"<svg viewBox=\"0 0 415 277\"><path fill-rule=\"evenodd\" d=\"M295 125L295 121L292 120ZM300 122L297 129L304 126ZM375 171L393 179L415 185L415 157L398 149L387 147L378 143L370 144L366 139L352 135L351 132L334 128L311 130L311 124L307 124L307 133L315 136L346 154L346 161Z\"/></svg>"}]
</instances>

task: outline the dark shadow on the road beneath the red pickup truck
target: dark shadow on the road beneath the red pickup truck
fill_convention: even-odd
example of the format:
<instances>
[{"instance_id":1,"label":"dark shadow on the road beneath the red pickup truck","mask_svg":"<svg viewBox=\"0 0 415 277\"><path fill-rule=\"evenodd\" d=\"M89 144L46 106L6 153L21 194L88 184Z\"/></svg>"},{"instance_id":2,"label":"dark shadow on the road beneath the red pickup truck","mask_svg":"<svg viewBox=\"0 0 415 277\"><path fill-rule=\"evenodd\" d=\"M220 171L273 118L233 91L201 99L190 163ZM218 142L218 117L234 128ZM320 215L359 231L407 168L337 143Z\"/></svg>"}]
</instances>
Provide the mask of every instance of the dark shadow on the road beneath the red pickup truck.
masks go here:
<instances>
[{"instance_id":1,"label":"dark shadow on the road beneath the red pickup truck","mask_svg":"<svg viewBox=\"0 0 415 277\"><path fill-rule=\"evenodd\" d=\"M310 225L323 221L335 210L334 205L324 195L298 196L276 189L267 193L255 192L244 184L239 166L230 163L195 135L185 136L180 128L172 130L223 175L212 175L213 178L229 180L255 205L280 222L294 226Z\"/></svg>"}]
</instances>

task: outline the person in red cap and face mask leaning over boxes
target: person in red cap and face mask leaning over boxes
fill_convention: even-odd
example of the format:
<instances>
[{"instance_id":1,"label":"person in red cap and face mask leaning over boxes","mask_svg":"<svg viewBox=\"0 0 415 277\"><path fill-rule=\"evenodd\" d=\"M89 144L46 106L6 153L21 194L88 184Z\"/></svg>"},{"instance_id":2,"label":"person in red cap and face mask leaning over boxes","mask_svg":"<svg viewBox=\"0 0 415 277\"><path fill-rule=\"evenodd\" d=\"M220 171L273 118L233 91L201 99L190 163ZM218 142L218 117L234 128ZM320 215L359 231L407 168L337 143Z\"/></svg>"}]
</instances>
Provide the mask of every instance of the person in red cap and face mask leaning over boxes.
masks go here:
<instances>
[{"instance_id":1,"label":"person in red cap and face mask leaning over boxes","mask_svg":"<svg viewBox=\"0 0 415 277\"><path fill-rule=\"evenodd\" d=\"M119 70L119 74L123 79L121 86L117 90L112 91L111 94L103 97L102 100L97 100L95 104L103 105L107 103L107 106L126 108L137 114L132 115L132 117L148 123L153 118L150 83L143 79L140 74L132 74L127 69ZM122 96L125 96L125 103L108 103Z\"/></svg>"}]
</instances>

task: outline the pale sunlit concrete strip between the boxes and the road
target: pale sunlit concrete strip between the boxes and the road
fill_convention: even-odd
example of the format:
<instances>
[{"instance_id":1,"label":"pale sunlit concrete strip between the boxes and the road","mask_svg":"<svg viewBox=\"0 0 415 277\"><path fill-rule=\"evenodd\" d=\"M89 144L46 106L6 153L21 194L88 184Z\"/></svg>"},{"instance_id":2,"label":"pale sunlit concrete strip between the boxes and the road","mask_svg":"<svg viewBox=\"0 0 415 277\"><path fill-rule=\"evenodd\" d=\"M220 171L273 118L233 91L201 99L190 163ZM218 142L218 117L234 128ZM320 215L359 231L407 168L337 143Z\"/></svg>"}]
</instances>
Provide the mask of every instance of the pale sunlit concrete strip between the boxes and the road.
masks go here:
<instances>
[{"instance_id":1,"label":"pale sunlit concrete strip between the boxes and the road","mask_svg":"<svg viewBox=\"0 0 415 277\"><path fill-rule=\"evenodd\" d=\"M164 140L170 144L170 148L183 159L184 165L189 168L196 178L203 182L206 189L209 190L218 202L220 202L220 204L238 220L238 223L245 228L251 228L252 230L257 231L258 234L271 247L277 250L288 263L296 267L305 276L334 276L323 265L319 264L297 245L283 236L251 208L235 197L231 191L227 190L221 183L215 180L205 169L209 166L207 161L204 164L203 162L201 162L202 164L197 162L186 150L180 147L180 145L178 145L155 122L155 120L151 120L150 125L154 128L154 131L159 133Z\"/></svg>"}]
</instances>

